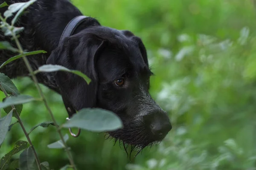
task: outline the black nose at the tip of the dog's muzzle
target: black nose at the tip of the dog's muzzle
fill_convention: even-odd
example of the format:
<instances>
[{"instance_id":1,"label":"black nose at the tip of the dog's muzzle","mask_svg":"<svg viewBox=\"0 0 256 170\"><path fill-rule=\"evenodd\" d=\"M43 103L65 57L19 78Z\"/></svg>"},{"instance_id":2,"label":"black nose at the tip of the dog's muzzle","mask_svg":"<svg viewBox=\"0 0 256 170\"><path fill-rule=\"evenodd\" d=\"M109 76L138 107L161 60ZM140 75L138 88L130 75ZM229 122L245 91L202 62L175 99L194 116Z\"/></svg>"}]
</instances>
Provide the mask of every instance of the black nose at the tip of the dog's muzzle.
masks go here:
<instances>
[{"instance_id":1,"label":"black nose at the tip of the dog's muzzle","mask_svg":"<svg viewBox=\"0 0 256 170\"><path fill-rule=\"evenodd\" d=\"M162 112L151 113L144 117L145 124L156 140L162 140L172 129L169 117Z\"/></svg>"}]
</instances>

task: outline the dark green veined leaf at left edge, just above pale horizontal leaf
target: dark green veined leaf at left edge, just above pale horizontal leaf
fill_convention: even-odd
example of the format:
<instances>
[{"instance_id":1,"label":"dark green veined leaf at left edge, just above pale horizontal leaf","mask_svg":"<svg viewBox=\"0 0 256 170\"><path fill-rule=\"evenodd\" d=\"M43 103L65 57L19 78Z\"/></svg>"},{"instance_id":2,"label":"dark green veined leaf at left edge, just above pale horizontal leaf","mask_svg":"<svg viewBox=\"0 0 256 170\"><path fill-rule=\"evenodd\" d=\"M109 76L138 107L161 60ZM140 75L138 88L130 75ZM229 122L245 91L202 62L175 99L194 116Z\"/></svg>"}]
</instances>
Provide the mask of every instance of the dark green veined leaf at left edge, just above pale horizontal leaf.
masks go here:
<instances>
[{"instance_id":1,"label":"dark green veined leaf at left edge, just above pale horizontal leaf","mask_svg":"<svg viewBox=\"0 0 256 170\"><path fill-rule=\"evenodd\" d=\"M20 94L18 89L12 82L12 80L3 73L0 73L0 83L3 86L3 88L6 90L7 94L14 94L14 95Z\"/></svg>"}]
</instances>

